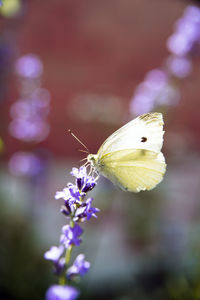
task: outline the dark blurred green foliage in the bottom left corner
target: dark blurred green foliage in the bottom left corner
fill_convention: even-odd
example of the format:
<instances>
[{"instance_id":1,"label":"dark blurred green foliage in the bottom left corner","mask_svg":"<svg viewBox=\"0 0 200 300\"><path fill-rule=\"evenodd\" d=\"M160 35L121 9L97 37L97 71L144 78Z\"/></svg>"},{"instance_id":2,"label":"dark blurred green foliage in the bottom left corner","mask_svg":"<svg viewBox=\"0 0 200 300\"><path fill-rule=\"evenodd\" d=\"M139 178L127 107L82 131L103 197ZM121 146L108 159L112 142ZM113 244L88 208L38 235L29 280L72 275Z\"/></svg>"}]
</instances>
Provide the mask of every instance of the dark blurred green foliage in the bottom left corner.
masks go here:
<instances>
[{"instance_id":1,"label":"dark blurred green foliage in the bottom left corner","mask_svg":"<svg viewBox=\"0 0 200 300\"><path fill-rule=\"evenodd\" d=\"M42 300L51 282L50 266L36 247L30 219L0 201L0 299Z\"/></svg>"}]
</instances>

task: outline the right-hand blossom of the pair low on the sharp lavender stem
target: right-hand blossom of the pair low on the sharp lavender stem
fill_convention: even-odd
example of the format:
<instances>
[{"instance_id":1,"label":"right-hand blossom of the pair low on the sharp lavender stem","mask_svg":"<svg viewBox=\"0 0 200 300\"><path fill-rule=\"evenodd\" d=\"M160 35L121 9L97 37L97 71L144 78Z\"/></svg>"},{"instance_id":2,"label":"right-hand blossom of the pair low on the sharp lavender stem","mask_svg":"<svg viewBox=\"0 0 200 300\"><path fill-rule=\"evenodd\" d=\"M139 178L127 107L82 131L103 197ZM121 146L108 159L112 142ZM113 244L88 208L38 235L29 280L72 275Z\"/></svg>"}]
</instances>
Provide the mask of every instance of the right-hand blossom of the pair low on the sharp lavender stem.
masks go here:
<instances>
[{"instance_id":1,"label":"right-hand blossom of the pair low on the sharp lavender stem","mask_svg":"<svg viewBox=\"0 0 200 300\"><path fill-rule=\"evenodd\" d=\"M74 275L83 276L90 268L90 263L85 260L84 254L79 254L73 265L67 271L67 277L71 278Z\"/></svg>"}]
</instances>

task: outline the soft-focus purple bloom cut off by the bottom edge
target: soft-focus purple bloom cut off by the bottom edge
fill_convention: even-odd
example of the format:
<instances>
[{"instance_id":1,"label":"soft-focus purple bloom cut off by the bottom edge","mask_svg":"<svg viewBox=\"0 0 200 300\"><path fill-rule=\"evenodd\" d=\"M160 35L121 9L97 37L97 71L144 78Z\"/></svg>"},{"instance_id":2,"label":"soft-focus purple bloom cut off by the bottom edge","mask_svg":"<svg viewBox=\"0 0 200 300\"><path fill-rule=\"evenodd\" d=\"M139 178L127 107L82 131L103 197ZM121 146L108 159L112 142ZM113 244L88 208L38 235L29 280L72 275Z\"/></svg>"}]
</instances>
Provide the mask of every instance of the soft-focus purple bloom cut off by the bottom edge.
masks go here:
<instances>
[{"instance_id":1,"label":"soft-focus purple bloom cut off by the bottom edge","mask_svg":"<svg viewBox=\"0 0 200 300\"><path fill-rule=\"evenodd\" d=\"M46 292L46 300L75 300L79 291L72 286L52 285Z\"/></svg>"}]
</instances>

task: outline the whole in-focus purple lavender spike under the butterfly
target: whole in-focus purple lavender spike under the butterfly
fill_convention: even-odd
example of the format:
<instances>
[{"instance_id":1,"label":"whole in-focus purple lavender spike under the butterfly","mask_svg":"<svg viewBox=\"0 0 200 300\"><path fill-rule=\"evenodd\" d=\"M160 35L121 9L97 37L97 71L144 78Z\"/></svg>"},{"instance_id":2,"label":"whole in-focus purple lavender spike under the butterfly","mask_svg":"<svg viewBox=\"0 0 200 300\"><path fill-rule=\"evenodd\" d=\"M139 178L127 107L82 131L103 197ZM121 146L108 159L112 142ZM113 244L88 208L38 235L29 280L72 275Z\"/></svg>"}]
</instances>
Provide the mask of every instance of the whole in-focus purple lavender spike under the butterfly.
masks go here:
<instances>
[{"instance_id":1,"label":"whole in-focus purple lavender spike under the butterfly","mask_svg":"<svg viewBox=\"0 0 200 300\"><path fill-rule=\"evenodd\" d=\"M78 222L84 222L91 217L97 218L98 208L92 207L93 198L86 198L86 195L96 186L96 178L87 174L86 168L73 168L71 175L76 178L76 184L68 183L62 190L56 192L55 199L63 199L64 205L61 212L70 219L70 224L62 227L60 246L53 246L44 255L45 259L54 263L55 273L60 276L60 283L65 284L66 279L72 280L75 275L83 276L90 268L90 263L85 260L84 254L79 254L73 265L69 267L71 250L73 246L79 246L80 236L83 229ZM66 249L65 258L61 257ZM54 285L47 291L46 300L67 300L76 299L77 290L69 286ZM73 298L74 297L74 298Z\"/></svg>"}]
</instances>

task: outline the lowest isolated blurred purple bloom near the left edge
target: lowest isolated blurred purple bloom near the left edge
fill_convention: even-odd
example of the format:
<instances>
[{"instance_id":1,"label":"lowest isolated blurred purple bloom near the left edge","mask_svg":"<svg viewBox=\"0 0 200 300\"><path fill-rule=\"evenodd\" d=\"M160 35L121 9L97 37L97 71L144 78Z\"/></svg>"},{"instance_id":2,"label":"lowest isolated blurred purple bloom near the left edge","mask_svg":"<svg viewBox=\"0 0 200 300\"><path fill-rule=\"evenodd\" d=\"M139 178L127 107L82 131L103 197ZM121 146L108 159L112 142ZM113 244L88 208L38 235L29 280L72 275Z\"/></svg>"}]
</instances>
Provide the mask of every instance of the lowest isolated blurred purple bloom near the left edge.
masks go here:
<instances>
[{"instance_id":1,"label":"lowest isolated blurred purple bloom near the left edge","mask_svg":"<svg viewBox=\"0 0 200 300\"><path fill-rule=\"evenodd\" d=\"M35 176L43 169L43 163L38 156L22 151L12 155L8 166L15 176Z\"/></svg>"}]
</instances>

